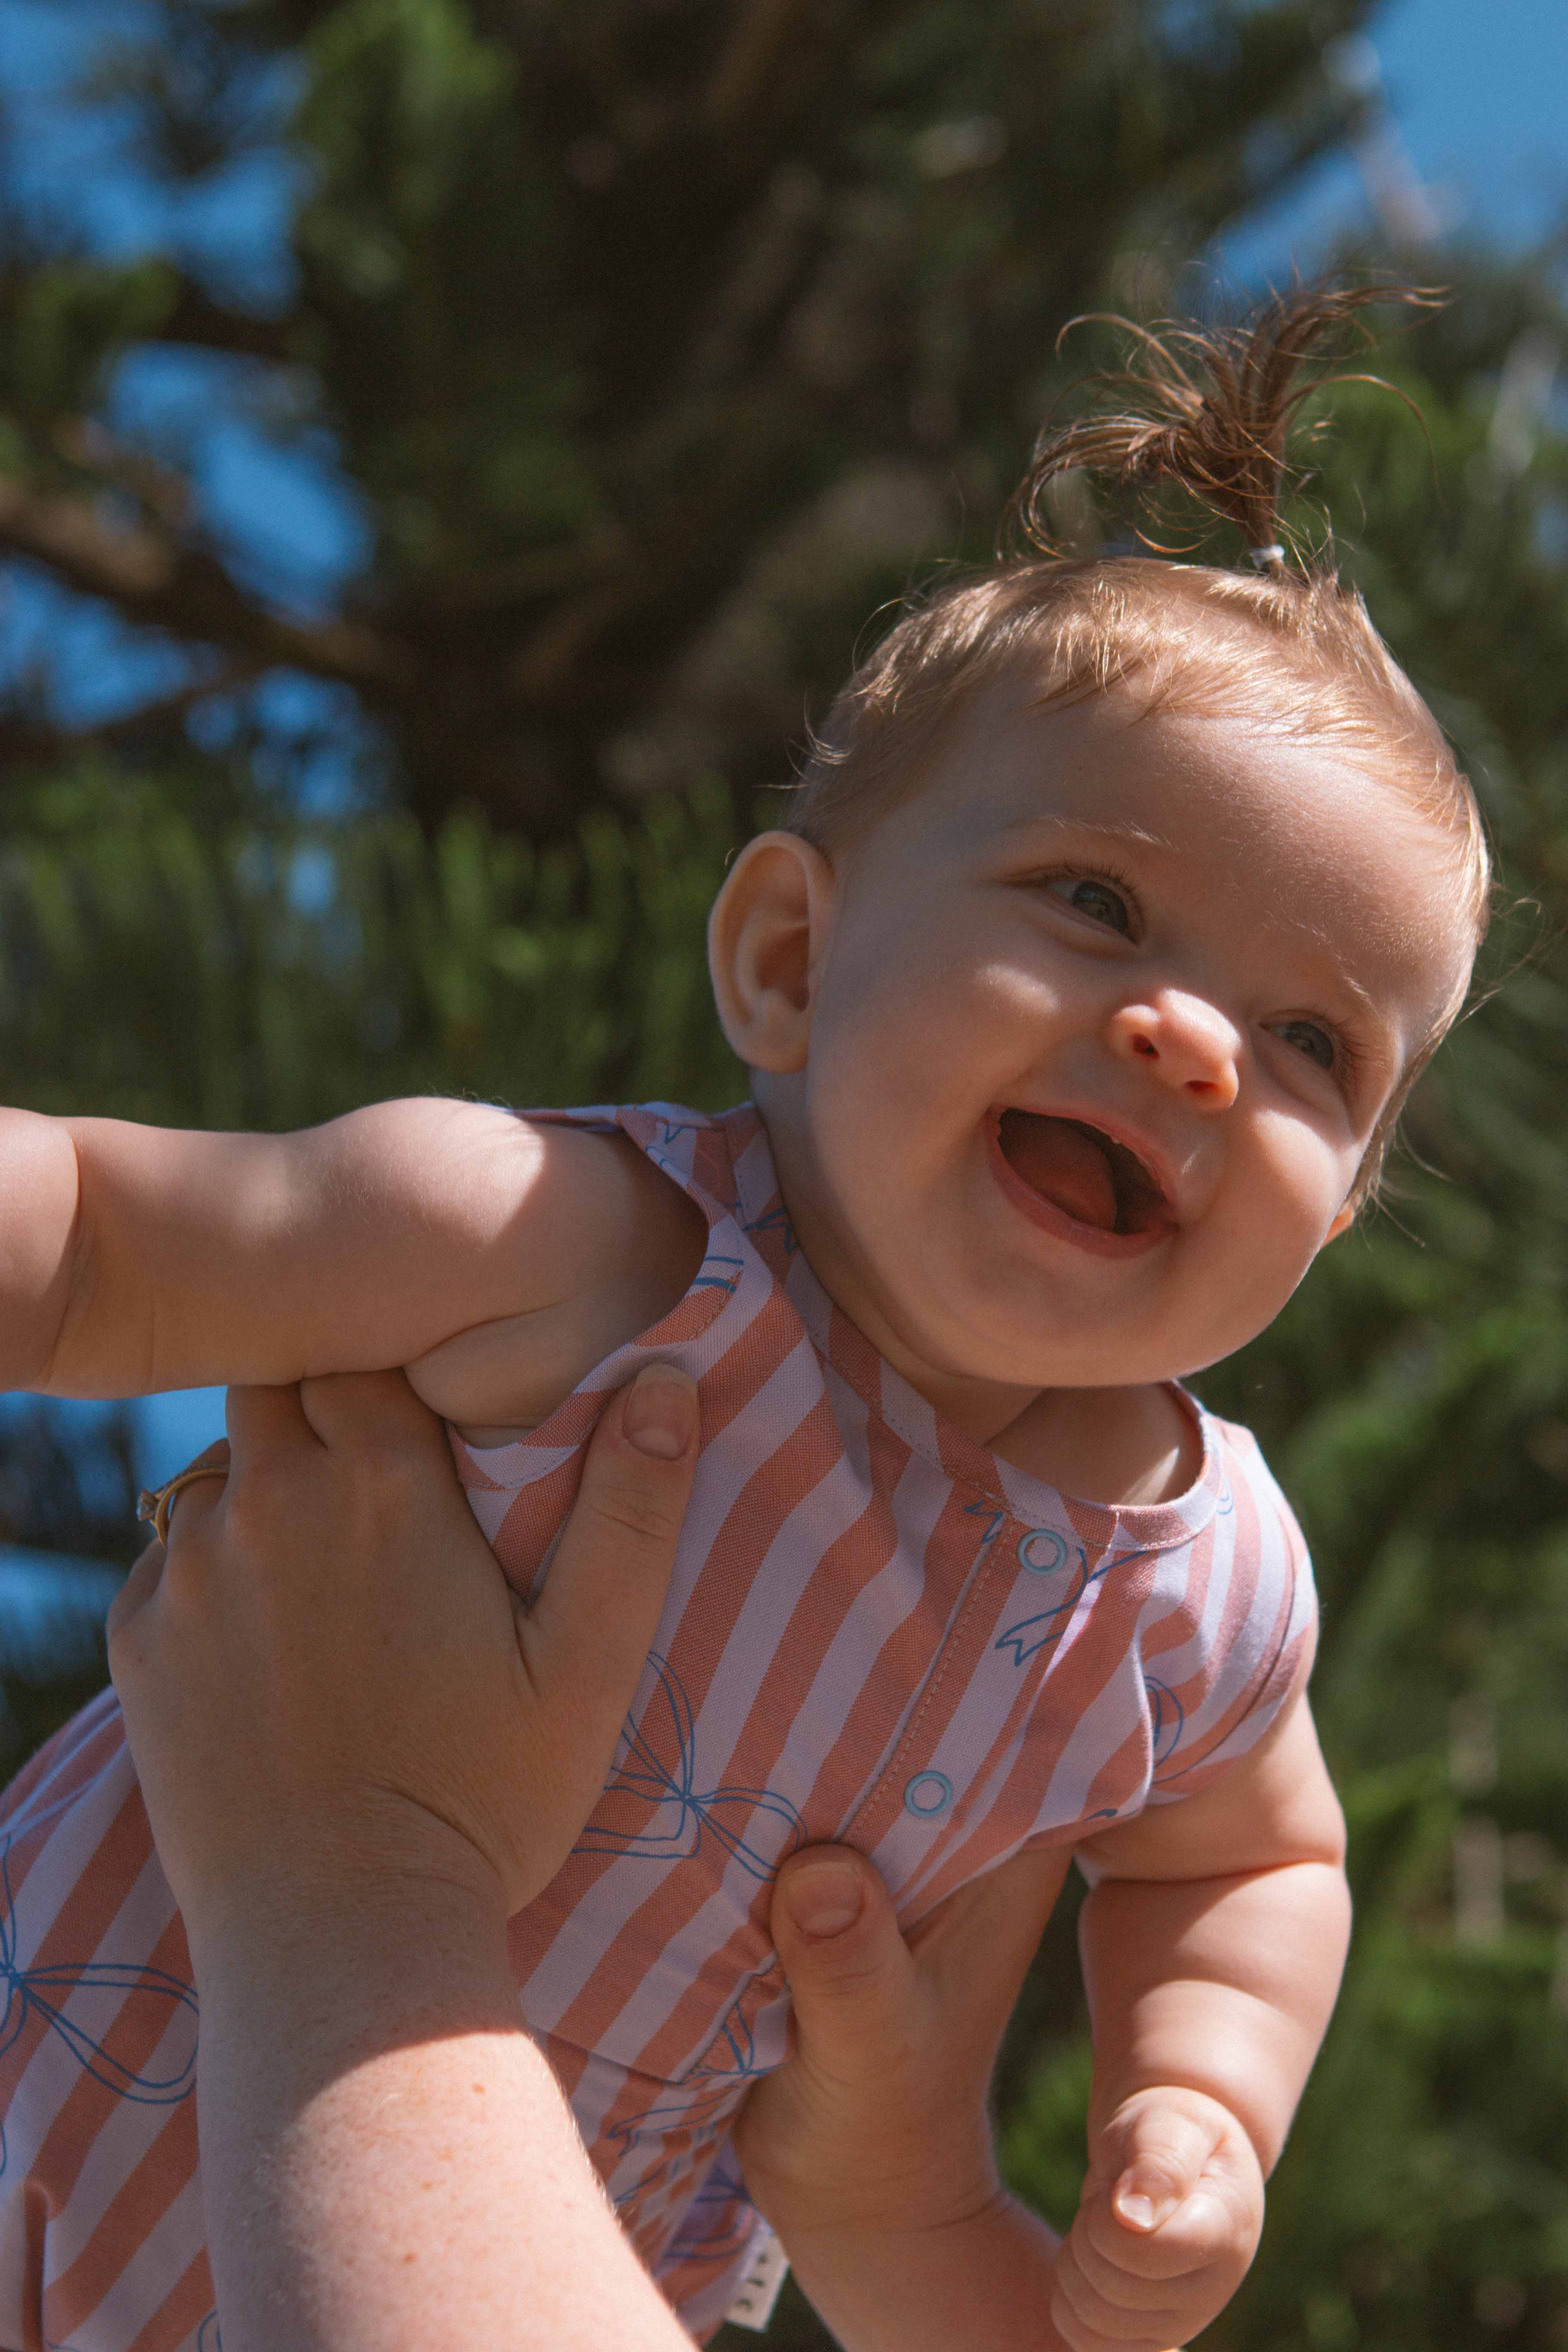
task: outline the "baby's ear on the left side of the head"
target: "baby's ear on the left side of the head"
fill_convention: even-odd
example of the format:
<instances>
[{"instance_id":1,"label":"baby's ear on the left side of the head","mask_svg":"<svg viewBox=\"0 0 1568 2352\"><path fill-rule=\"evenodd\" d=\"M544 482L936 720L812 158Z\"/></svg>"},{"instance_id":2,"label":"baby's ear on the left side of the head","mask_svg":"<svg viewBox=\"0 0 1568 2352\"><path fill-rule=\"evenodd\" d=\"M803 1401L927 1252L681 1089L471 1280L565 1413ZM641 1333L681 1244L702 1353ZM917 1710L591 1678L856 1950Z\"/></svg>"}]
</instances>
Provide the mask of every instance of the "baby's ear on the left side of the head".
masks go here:
<instances>
[{"instance_id":1,"label":"baby's ear on the left side of the head","mask_svg":"<svg viewBox=\"0 0 1568 2352\"><path fill-rule=\"evenodd\" d=\"M748 1070L802 1070L835 877L799 833L759 833L729 868L708 917L719 1021Z\"/></svg>"}]
</instances>

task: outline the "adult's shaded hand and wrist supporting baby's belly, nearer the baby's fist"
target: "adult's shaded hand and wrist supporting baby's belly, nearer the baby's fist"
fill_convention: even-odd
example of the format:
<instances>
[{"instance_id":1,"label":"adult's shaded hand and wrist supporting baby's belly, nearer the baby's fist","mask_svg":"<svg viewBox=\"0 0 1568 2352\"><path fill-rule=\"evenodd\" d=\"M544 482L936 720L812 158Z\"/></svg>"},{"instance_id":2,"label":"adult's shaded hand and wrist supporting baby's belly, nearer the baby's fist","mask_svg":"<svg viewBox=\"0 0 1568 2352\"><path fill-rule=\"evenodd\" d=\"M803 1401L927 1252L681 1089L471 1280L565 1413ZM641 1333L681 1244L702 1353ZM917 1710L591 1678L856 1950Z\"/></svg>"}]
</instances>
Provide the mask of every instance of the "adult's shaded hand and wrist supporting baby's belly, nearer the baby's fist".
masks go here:
<instances>
[{"instance_id":1,"label":"adult's shaded hand and wrist supporting baby's belly, nearer the baby's fist","mask_svg":"<svg viewBox=\"0 0 1568 2352\"><path fill-rule=\"evenodd\" d=\"M797 2049L736 2147L799 2284L853 2352L1041 2352L1056 2237L997 2178L990 2077L1067 1875L1023 1853L905 1940L865 1856L816 1846L773 1891Z\"/></svg>"}]
</instances>

